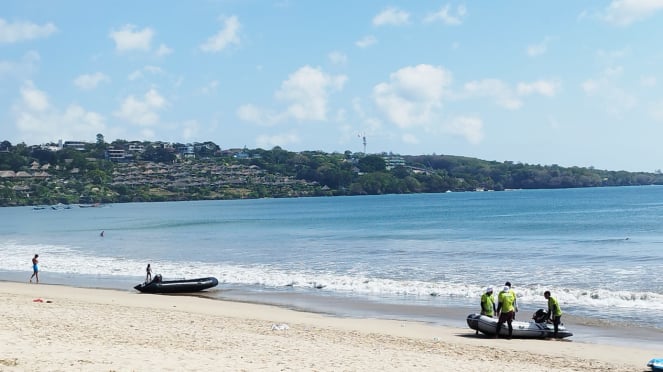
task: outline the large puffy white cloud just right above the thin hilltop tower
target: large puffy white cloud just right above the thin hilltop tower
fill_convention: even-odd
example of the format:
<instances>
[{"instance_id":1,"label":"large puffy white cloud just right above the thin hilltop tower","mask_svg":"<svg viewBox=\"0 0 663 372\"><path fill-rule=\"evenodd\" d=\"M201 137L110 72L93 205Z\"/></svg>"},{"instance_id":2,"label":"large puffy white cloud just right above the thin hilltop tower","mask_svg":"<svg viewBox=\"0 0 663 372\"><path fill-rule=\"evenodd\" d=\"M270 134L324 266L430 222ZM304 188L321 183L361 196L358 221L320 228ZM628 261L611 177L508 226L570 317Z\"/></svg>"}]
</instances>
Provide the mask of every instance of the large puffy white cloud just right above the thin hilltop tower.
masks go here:
<instances>
[{"instance_id":1,"label":"large puffy white cloud just right above the thin hilltop tower","mask_svg":"<svg viewBox=\"0 0 663 372\"><path fill-rule=\"evenodd\" d=\"M401 128L428 124L442 107L451 81L451 74L442 67L405 67L392 73L389 82L376 85L373 98L380 111Z\"/></svg>"}]
</instances>

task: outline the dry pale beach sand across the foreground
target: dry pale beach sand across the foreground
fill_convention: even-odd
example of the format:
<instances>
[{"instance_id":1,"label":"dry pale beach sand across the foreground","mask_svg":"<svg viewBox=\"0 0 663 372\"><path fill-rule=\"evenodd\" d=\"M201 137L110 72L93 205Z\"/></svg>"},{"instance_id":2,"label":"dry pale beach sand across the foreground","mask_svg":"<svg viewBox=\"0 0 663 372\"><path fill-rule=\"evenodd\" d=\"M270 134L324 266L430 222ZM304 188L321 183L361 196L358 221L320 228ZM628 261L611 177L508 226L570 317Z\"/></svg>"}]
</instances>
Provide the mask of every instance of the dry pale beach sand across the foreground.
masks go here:
<instances>
[{"instance_id":1,"label":"dry pale beach sand across the foreground","mask_svg":"<svg viewBox=\"0 0 663 372\"><path fill-rule=\"evenodd\" d=\"M0 282L0 297L0 371L645 371L653 357L195 296Z\"/></svg>"}]
</instances>

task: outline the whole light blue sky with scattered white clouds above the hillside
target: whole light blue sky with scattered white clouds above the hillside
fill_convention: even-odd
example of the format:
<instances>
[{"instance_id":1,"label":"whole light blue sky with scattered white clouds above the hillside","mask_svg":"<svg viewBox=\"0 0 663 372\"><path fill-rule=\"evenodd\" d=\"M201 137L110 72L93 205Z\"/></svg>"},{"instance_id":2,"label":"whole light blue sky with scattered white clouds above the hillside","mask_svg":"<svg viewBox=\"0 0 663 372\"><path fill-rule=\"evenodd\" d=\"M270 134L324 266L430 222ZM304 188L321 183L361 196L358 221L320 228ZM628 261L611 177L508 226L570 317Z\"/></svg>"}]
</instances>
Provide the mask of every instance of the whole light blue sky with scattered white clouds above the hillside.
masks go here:
<instances>
[{"instance_id":1,"label":"whole light blue sky with scattered white clouds above the hillside","mask_svg":"<svg viewBox=\"0 0 663 372\"><path fill-rule=\"evenodd\" d=\"M663 168L663 0L3 1L0 140Z\"/></svg>"}]
</instances>

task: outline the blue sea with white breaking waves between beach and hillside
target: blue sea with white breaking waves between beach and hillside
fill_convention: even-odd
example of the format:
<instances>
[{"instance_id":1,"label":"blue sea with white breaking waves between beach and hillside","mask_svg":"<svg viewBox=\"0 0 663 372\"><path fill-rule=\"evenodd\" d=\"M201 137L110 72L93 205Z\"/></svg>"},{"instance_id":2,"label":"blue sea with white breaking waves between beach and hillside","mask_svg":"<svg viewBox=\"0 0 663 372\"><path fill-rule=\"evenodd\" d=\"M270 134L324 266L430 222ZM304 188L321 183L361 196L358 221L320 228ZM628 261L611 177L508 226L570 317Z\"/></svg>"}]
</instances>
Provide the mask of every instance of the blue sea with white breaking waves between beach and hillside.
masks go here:
<instances>
[{"instance_id":1,"label":"blue sea with white breaking waves between beach and hillside","mask_svg":"<svg viewBox=\"0 0 663 372\"><path fill-rule=\"evenodd\" d=\"M464 324L506 281L582 327L663 335L663 186L0 208L0 280L206 296ZM104 231L103 236L100 235ZM594 333L594 336L597 336Z\"/></svg>"}]
</instances>

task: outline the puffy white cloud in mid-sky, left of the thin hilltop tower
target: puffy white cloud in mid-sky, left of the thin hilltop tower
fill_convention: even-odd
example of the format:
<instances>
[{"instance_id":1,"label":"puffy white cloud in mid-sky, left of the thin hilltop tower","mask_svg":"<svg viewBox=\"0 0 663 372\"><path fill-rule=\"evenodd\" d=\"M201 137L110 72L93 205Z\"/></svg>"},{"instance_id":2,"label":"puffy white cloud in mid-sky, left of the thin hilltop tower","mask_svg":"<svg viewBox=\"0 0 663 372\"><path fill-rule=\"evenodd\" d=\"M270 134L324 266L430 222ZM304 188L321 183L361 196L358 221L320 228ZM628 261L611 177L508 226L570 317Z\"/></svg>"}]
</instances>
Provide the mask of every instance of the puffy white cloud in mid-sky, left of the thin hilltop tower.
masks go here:
<instances>
[{"instance_id":1,"label":"puffy white cloud in mid-sky, left of the thin hilltop tower","mask_svg":"<svg viewBox=\"0 0 663 372\"><path fill-rule=\"evenodd\" d=\"M239 107L237 115L242 120L267 125L289 118L325 121L329 94L342 90L346 80L345 75L329 75L318 68L304 66L281 83L275 93L275 98L287 106L285 111L273 112L246 104Z\"/></svg>"}]
</instances>

